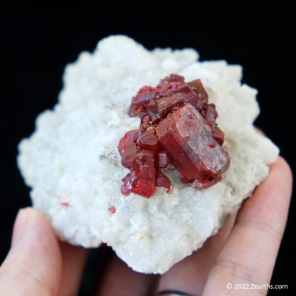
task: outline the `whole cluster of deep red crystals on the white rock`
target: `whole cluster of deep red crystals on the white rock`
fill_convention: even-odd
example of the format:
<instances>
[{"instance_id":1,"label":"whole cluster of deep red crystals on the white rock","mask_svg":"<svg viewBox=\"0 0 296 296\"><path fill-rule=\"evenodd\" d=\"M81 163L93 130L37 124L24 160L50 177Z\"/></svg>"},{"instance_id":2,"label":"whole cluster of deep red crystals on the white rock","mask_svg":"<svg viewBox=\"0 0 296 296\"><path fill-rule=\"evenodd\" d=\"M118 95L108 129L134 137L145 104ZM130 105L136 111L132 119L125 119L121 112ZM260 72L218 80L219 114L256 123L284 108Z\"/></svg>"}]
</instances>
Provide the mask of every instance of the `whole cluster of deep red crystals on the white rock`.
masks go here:
<instances>
[{"instance_id":1,"label":"whole cluster of deep red crystals on the white rock","mask_svg":"<svg viewBox=\"0 0 296 296\"><path fill-rule=\"evenodd\" d=\"M140 117L141 125L127 132L118 146L122 166L131 171L122 179L122 194L149 198L157 186L171 193L171 181L161 171L169 162L181 181L195 189L216 184L228 169L218 113L208 104L201 80L185 83L184 77L171 74L155 88L143 86L132 97L129 115Z\"/></svg>"}]
</instances>

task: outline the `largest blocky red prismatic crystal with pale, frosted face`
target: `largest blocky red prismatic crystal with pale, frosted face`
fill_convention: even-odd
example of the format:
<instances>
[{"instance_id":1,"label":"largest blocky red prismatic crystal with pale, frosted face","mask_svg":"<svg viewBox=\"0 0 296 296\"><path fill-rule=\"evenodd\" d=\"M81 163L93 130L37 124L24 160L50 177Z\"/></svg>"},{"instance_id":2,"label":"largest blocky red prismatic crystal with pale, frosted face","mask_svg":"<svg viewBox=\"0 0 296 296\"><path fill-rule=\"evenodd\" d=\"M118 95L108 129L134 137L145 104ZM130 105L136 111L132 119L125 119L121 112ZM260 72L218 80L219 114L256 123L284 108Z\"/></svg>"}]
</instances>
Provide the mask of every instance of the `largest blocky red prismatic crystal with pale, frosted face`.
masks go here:
<instances>
[{"instance_id":1,"label":"largest blocky red prismatic crystal with pale, frosted face","mask_svg":"<svg viewBox=\"0 0 296 296\"><path fill-rule=\"evenodd\" d=\"M184 104L159 122L156 131L171 162L189 182L216 179L228 168L227 152L213 138L196 107Z\"/></svg>"}]
</instances>

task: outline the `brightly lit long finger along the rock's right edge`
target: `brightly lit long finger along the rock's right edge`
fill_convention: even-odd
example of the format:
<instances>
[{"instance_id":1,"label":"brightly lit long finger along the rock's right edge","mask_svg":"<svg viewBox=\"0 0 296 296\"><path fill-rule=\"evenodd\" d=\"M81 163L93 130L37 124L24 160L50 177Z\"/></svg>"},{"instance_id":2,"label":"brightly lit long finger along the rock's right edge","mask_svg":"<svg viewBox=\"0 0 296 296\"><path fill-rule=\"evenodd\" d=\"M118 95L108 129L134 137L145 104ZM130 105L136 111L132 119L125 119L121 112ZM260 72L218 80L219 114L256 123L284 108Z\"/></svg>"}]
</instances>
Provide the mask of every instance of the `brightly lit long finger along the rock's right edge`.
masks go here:
<instances>
[{"instance_id":1,"label":"brightly lit long finger along the rock's right edge","mask_svg":"<svg viewBox=\"0 0 296 296\"><path fill-rule=\"evenodd\" d=\"M245 202L203 295L262 295L260 290L228 290L227 283L265 285L270 282L285 230L292 191L292 174L279 158L270 174ZM217 294L218 293L218 294Z\"/></svg>"}]
</instances>

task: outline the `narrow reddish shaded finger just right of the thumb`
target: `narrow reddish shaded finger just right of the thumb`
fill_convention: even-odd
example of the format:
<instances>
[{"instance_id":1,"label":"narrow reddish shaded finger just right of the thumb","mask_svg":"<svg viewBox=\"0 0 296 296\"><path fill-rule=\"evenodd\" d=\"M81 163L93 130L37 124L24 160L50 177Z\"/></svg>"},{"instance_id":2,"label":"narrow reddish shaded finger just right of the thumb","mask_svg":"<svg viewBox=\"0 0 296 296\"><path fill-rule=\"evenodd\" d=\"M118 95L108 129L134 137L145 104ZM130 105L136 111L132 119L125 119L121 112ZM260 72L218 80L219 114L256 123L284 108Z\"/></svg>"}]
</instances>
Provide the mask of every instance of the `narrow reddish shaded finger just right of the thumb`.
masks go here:
<instances>
[{"instance_id":1,"label":"narrow reddish shaded finger just right of the thumb","mask_svg":"<svg viewBox=\"0 0 296 296\"><path fill-rule=\"evenodd\" d=\"M60 242L60 252L63 267L58 296L77 295L83 275L87 250Z\"/></svg>"}]
</instances>

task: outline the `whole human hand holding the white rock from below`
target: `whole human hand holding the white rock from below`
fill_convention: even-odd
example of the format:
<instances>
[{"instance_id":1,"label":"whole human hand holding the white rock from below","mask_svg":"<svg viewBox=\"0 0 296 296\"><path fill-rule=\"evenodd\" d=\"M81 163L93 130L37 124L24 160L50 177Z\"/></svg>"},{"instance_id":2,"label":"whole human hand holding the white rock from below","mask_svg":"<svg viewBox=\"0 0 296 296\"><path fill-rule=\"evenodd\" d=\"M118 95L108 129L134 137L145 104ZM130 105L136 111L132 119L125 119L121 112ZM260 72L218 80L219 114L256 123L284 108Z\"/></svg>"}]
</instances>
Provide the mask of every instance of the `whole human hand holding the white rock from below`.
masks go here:
<instances>
[{"instance_id":1,"label":"whole human hand holding the white rock from below","mask_svg":"<svg viewBox=\"0 0 296 296\"><path fill-rule=\"evenodd\" d=\"M279 158L253 196L203 248L161 277L135 273L114 255L97 295L156 295L164 290L254 295L253 290L229 290L226 285L270 282L291 188L289 166ZM0 268L0 295L76 295L85 258L85 249L57 240L45 216L33 208L23 209L16 218L11 250Z\"/></svg>"}]
</instances>

